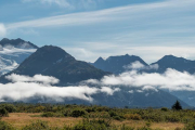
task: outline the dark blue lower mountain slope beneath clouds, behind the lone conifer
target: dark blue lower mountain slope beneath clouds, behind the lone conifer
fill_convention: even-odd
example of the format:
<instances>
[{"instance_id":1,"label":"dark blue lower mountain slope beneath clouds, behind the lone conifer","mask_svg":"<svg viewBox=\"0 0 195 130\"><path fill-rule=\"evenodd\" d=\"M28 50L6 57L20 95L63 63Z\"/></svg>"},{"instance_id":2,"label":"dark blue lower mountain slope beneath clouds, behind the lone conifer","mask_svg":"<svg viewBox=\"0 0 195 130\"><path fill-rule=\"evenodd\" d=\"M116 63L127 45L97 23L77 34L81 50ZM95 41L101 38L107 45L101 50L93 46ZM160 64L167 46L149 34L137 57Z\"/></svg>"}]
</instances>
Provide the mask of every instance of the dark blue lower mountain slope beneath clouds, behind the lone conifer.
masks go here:
<instances>
[{"instance_id":1,"label":"dark blue lower mountain slope beneath clouds, behind the lone conifer","mask_svg":"<svg viewBox=\"0 0 195 130\"><path fill-rule=\"evenodd\" d=\"M133 91L133 92L132 92ZM122 88L120 91L115 92L113 95L106 95L104 93L92 95L95 104L115 106L115 107L169 107L176 103L178 98L174 95L158 90L144 90L139 91L138 89L129 91ZM186 103L179 100L183 107L190 107Z\"/></svg>"}]
</instances>

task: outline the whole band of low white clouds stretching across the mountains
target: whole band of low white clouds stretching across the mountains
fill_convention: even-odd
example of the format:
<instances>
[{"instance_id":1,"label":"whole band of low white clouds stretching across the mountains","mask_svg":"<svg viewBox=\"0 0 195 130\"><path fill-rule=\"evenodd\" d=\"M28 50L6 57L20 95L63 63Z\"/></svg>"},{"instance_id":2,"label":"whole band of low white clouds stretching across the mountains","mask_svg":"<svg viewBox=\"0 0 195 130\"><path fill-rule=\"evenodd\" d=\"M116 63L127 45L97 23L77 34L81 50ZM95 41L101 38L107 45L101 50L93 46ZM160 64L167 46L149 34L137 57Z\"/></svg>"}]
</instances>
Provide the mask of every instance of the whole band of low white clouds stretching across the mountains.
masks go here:
<instances>
[{"instance_id":1,"label":"whole band of low white clouds stretching across the mountains","mask_svg":"<svg viewBox=\"0 0 195 130\"><path fill-rule=\"evenodd\" d=\"M165 74L146 74L131 70L119 76L104 76L101 80L89 79L80 82L79 86L72 87L53 86L60 80L42 75L28 77L12 74L5 78L12 82L0 83L0 102L28 102L29 99L36 96L42 98L41 102L46 102L46 99L49 99L49 102L66 102L66 100L73 99L93 102L93 94L113 95L115 92L121 91L123 87L129 88L127 90L129 94L145 92L148 95L151 92L158 92L159 89L195 91L195 75L170 68Z\"/></svg>"}]
</instances>

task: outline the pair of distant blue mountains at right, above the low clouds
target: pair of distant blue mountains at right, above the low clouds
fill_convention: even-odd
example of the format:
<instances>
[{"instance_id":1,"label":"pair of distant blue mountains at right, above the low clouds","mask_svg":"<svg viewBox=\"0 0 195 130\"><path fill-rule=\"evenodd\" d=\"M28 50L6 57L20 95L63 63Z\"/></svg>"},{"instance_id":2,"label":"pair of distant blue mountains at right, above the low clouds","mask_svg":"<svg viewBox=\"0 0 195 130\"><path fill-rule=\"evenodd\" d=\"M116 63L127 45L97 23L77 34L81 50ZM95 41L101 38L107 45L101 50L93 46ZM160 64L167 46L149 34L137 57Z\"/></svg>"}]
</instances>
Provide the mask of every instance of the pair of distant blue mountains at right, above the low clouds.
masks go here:
<instances>
[{"instance_id":1,"label":"pair of distant blue mountains at right, above the low clouds","mask_svg":"<svg viewBox=\"0 0 195 130\"><path fill-rule=\"evenodd\" d=\"M135 55L120 55L120 56L109 56L106 60L99 57L94 63L91 63L96 68L100 68L105 72L110 72L113 74L121 74L127 70L135 69L133 67L129 67L127 69L126 66L131 66L133 63L138 64L138 70L146 72L146 73L165 73L168 68L176 69L178 72L187 72L190 74L195 73L195 61L186 60L184 57L177 57L173 55L165 55L159 61L147 64L141 57ZM157 67L151 67L156 65ZM139 67L140 66L140 67Z\"/></svg>"}]
</instances>

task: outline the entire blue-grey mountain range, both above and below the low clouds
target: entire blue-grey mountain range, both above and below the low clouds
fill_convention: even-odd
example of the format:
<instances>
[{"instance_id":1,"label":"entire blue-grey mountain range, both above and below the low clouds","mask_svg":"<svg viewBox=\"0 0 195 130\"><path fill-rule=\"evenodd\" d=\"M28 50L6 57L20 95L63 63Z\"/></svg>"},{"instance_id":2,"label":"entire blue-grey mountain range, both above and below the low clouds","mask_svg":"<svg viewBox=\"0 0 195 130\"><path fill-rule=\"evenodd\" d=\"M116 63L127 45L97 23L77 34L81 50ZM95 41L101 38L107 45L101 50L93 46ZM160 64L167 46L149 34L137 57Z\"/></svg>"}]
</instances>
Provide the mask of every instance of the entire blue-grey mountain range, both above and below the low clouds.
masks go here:
<instances>
[{"instance_id":1,"label":"entire blue-grey mountain range, both above and below the low clouds","mask_svg":"<svg viewBox=\"0 0 195 130\"><path fill-rule=\"evenodd\" d=\"M61 82L57 86L77 86L83 80L100 80L105 76L119 75L127 69L139 69L140 72L147 73L164 73L167 68L173 68L180 72L190 72L193 70L195 66L194 61L176 57L173 55L164 56L156 63L148 65L141 57L128 54L121 56L110 56L107 60L100 57L95 63L89 64L87 62L77 61L66 51L54 46L38 48L37 46L22 39L3 39L0 41L0 44L2 46L2 51L9 49L11 52L17 54L20 53L17 55L18 60L14 57L15 54L13 53L12 56L10 56L10 53L2 56L0 55L1 58L4 60L4 64L5 61L15 61L17 64L15 67L9 69L6 72L8 74L0 77L1 83L10 82L5 79L5 76L11 74L25 76L35 76L40 74L44 76L53 76L60 79ZM3 63L1 63L1 65ZM157 67L153 68L155 65L157 65ZM100 88L100 86L94 84L91 84L90 87ZM114 88L117 87L118 86L114 86ZM185 92L185 94L178 94L177 92L171 93L159 89L155 91L141 91L138 88L134 88L132 92L130 88L123 86L120 86L119 88L120 91L117 91L112 95L107 95L105 93L91 95L94 99L93 103L117 107L171 107L171 105L179 100L184 107L190 107L186 103L195 106L195 104L192 103L192 99L191 102L187 101L187 92ZM133 87L131 87L131 89ZM34 99L34 101L38 102L39 100ZM66 103L86 102L72 99Z\"/></svg>"}]
</instances>

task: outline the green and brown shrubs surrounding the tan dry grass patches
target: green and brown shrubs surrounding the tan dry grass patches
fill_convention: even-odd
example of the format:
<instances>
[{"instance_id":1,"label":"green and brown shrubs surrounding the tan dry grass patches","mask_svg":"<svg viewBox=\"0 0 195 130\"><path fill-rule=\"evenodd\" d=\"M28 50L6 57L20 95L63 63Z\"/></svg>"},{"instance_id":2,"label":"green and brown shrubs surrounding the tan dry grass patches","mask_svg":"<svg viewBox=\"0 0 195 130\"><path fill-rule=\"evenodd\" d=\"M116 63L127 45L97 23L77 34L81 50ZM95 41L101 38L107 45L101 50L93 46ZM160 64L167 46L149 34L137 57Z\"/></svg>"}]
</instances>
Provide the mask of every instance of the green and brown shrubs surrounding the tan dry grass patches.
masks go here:
<instances>
[{"instance_id":1,"label":"green and brown shrubs surrounding the tan dry grass patches","mask_svg":"<svg viewBox=\"0 0 195 130\"><path fill-rule=\"evenodd\" d=\"M169 109L166 107L154 108L110 108L98 105L61 105L61 104L0 104L0 117L8 117L9 113L41 113L41 117L75 117L83 118L76 126L64 126L64 128L50 128L47 122L36 121L23 128L23 130L135 130L129 126L115 126L113 120L144 120L145 126L139 130L151 130L153 122L182 122L184 130L195 130L195 110L193 109ZM8 130L14 129L1 121L1 127ZM32 129L34 128L34 129ZM35 129L36 128L36 129ZM180 128L178 128L180 130Z\"/></svg>"}]
</instances>

